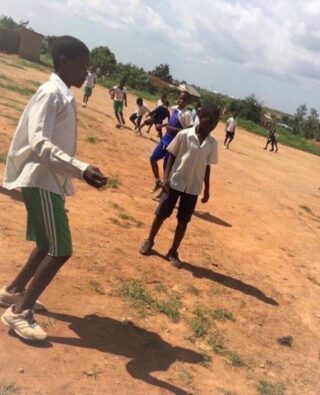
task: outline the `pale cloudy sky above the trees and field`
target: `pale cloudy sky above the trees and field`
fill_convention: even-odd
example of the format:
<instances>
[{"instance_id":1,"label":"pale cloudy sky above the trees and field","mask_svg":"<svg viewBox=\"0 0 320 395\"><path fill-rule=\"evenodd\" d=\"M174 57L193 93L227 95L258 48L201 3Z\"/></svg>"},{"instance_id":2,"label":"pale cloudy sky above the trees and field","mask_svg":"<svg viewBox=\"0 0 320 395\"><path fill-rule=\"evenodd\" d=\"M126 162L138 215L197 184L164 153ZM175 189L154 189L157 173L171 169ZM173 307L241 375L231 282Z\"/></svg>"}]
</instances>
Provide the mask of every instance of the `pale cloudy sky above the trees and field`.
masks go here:
<instances>
[{"instance_id":1,"label":"pale cloudy sky above the trees and field","mask_svg":"<svg viewBox=\"0 0 320 395\"><path fill-rule=\"evenodd\" d=\"M0 0L0 14L210 90L320 110L320 0Z\"/></svg>"}]
</instances>

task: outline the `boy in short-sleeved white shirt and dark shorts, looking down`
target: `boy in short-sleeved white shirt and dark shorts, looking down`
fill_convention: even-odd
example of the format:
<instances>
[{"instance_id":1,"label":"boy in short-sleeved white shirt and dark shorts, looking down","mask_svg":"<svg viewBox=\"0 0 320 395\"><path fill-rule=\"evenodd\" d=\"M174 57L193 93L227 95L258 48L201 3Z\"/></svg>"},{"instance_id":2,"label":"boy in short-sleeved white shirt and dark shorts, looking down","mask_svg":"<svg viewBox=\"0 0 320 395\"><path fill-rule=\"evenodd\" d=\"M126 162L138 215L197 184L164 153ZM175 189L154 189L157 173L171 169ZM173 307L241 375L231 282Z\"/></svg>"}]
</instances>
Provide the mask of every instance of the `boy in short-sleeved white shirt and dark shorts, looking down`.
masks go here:
<instances>
[{"instance_id":1,"label":"boy in short-sleeved white shirt and dark shorts, looking down","mask_svg":"<svg viewBox=\"0 0 320 395\"><path fill-rule=\"evenodd\" d=\"M167 254L168 260L177 268L181 267L178 249L195 210L198 195L204 183L201 201L206 203L209 200L210 165L218 162L218 145L210 132L219 121L219 109L208 104L199 110L198 115L199 124L179 132L167 147L169 159L163 178L163 193L149 236L139 250L142 255L151 254L156 235L179 200L178 224Z\"/></svg>"}]
</instances>

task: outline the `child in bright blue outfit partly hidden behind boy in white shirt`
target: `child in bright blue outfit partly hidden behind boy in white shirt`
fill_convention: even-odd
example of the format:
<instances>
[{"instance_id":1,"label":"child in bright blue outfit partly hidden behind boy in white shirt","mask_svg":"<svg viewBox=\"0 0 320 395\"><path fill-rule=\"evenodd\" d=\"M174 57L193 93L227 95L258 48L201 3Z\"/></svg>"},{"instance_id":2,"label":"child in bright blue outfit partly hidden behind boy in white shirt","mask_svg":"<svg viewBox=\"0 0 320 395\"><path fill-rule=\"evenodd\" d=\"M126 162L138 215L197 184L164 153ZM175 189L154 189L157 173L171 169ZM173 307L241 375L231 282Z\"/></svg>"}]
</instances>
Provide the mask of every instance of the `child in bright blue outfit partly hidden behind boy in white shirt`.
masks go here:
<instances>
[{"instance_id":1,"label":"child in bright blue outfit partly hidden behind boy in white shirt","mask_svg":"<svg viewBox=\"0 0 320 395\"><path fill-rule=\"evenodd\" d=\"M155 150L150 156L151 169L155 178L155 184L152 192L157 191L161 188L162 182L160 180L158 161L164 159L164 167L167 157L167 146L175 138L178 132L182 129L189 128L192 126L192 116L189 110L187 110L187 105L190 103L190 93L181 92L178 100L178 105L171 108L171 114L169 122L162 125L166 127L166 134L161 138L160 143L157 145Z\"/></svg>"}]
</instances>

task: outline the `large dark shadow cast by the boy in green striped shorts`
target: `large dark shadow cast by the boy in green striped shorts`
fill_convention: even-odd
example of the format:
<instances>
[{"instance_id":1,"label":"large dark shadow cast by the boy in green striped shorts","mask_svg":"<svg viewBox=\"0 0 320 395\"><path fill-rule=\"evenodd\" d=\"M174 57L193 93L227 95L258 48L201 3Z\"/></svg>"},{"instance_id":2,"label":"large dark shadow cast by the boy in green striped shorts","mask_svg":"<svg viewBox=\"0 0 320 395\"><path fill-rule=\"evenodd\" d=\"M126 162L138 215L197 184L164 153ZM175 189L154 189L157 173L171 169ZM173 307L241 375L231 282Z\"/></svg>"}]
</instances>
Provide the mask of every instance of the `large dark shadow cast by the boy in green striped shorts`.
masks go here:
<instances>
[{"instance_id":1,"label":"large dark shadow cast by the boy in green striped shorts","mask_svg":"<svg viewBox=\"0 0 320 395\"><path fill-rule=\"evenodd\" d=\"M110 317L87 315L84 318L69 314L44 311L41 314L70 323L69 328L77 337L49 336L51 343L96 349L122 355L131 360L127 363L128 373L135 379L157 386L177 395L189 392L151 375L152 372L167 371L174 362L199 363L201 354L182 347L174 347L157 333L129 323L124 325Z\"/></svg>"}]
</instances>

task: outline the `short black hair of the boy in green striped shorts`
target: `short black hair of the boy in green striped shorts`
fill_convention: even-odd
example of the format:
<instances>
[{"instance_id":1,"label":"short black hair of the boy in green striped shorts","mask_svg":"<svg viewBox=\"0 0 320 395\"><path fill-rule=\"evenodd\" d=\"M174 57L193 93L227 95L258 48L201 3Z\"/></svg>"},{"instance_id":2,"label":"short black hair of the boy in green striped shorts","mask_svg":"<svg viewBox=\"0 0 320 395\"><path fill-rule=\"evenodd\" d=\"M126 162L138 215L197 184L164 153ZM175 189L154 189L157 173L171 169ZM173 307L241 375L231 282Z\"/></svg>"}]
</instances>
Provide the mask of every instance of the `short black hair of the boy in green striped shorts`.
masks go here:
<instances>
[{"instance_id":1,"label":"short black hair of the boy in green striped shorts","mask_svg":"<svg viewBox=\"0 0 320 395\"><path fill-rule=\"evenodd\" d=\"M72 36L57 37L51 49L53 67L56 71L60 67L61 56L73 59L86 55L90 55L89 48L82 41Z\"/></svg>"}]
</instances>

